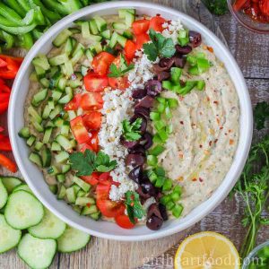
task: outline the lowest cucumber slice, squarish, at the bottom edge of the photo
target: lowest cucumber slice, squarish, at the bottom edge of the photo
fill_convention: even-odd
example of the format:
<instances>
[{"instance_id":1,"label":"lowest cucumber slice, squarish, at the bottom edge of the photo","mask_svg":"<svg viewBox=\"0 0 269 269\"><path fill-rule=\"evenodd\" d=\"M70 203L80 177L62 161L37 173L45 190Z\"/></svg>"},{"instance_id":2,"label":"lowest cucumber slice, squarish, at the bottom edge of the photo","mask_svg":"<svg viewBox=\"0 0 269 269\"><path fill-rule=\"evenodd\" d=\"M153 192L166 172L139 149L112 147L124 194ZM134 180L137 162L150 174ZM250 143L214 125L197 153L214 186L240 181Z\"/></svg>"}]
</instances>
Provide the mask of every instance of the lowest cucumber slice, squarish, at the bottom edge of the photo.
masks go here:
<instances>
[{"instance_id":1,"label":"lowest cucumber slice, squarish, at the bottom edge of the photo","mask_svg":"<svg viewBox=\"0 0 269 269\"><path fill-rule=\"evenodd\" d=\"M18 254L30 268L48 268L56 254L56 247L54 239L36 239L27 233L18 246Z\"/></svg>"}]
</instances>

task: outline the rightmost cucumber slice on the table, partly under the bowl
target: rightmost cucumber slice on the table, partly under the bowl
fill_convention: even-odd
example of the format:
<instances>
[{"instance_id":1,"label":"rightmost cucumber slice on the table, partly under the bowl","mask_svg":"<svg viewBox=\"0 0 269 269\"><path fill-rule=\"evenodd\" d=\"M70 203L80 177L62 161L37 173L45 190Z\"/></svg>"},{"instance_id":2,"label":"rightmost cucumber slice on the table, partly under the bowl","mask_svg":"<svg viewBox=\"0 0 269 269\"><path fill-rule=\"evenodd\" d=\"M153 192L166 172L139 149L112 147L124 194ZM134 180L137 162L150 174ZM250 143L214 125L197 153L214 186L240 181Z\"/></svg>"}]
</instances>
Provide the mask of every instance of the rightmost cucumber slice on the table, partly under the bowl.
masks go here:
<instances>
[{"instance_id":1,"label":"rightmost cucumber slice on the table, partly under the bowl","mask_svg":"<svg viewBox=\"0 0 269 269\"><path fill-rule=\"evenodd\" d=\"M64 234L57 239L59 252L73 252L85 247L91 239L90 234L67 226Z\"/></svg>"}]
</instances>

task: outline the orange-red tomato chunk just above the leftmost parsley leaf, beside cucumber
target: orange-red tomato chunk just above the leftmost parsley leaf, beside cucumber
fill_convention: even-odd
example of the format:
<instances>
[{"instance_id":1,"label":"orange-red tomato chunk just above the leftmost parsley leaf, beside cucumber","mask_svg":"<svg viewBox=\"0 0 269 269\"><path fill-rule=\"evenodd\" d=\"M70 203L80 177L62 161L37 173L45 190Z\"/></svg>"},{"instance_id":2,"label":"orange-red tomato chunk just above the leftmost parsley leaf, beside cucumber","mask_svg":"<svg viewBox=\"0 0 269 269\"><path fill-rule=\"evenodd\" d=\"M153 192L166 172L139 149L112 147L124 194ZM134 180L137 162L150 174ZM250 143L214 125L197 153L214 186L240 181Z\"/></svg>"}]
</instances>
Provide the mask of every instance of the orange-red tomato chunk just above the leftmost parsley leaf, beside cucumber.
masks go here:
<instances>
[{"instance_id":1,"label":"orange-red tomato chunk just above the leftmost parsley leaf, beside cucumber","mask_svg":"<svg viewBox=\"0 0 269 269\"><path fill-rule=\"evenodd\" d=\"M87 143L90 141L91 134L88 133L86 127L83 125L82 116L74 117L70 121L70 126L77 143Z\"/></svg>"}]
</instances>

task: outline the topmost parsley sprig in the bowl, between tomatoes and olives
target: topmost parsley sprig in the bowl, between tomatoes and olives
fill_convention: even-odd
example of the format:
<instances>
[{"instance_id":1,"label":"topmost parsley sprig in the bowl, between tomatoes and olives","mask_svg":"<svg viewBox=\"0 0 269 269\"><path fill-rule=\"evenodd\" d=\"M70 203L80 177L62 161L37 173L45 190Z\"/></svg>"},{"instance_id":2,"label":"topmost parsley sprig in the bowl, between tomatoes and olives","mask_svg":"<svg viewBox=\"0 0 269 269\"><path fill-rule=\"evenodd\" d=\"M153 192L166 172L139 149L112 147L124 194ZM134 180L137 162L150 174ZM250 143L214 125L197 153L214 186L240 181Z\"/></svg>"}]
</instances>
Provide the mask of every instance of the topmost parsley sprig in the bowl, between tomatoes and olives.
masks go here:
<instances>
[{"instance_id":1,"label":"topmost parsley sprig in the bowl, between tomatoes and olives","mask_svg":"<svg viewBox=\"0 0 269 269\"><path fill-rule=\"evenodd\" d=\"M152 29L150 30L150 38L152 43L143 44L143 51L150 61L155 61L157 56L169 58L175 54L176 48L173 39L167 39Z\"/></svg>"}]
</instances>

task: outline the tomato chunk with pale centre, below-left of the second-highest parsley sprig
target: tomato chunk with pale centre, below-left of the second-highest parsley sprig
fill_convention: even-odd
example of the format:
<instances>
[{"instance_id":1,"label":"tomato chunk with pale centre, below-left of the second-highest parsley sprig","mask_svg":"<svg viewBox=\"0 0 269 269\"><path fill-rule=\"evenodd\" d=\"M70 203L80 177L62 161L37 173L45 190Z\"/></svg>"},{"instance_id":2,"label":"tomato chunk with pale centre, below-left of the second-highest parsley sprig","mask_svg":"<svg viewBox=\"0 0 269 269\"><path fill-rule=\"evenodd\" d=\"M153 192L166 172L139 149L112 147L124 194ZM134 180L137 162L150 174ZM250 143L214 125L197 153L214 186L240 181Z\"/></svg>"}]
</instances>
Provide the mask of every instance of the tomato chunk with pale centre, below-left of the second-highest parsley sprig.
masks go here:
<instances>
[{"instance_id":1,"label":"tomato chunk with pale centre, below-left of the second-highest parsley sprig","mask_svg":"<svg viewBox=\"0 0 269 269\"><path fill-rule=\"evenodd\" d=\"M108 77L89 73L84 76L84 85L87 91L103 91L108 86Z\"/></svg>"}]
</instances>

